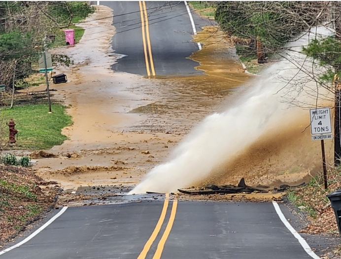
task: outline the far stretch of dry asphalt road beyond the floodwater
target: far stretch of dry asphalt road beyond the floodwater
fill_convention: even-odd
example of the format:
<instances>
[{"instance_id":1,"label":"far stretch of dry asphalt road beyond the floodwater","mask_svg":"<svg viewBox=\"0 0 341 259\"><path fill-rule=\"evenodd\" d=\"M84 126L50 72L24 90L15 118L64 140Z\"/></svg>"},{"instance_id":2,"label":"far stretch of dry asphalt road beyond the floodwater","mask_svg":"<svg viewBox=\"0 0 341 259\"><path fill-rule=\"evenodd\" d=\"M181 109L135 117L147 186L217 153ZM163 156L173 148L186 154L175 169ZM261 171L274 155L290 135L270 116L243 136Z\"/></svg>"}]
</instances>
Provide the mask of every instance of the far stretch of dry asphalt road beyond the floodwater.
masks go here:
<instances>
[{"instance_id":1,"label":"far stretch of dry asphalt road beyond the floodwater","mask_svg":"<svg viewBox=\"0 0 341 259\"><path fill-rule=\"evenodd\" d=\"M116 72L144 76L202 74L188 57L199 50L183 1L102 1L113 9L116 34L111 44L121 58ZM197 30L209 22L192 13ZM143 30L142 30L143 29ZM149 68L149 72L147 71ZM154 71L154 73L153 73Z\"/></svg>"}]
</instances>

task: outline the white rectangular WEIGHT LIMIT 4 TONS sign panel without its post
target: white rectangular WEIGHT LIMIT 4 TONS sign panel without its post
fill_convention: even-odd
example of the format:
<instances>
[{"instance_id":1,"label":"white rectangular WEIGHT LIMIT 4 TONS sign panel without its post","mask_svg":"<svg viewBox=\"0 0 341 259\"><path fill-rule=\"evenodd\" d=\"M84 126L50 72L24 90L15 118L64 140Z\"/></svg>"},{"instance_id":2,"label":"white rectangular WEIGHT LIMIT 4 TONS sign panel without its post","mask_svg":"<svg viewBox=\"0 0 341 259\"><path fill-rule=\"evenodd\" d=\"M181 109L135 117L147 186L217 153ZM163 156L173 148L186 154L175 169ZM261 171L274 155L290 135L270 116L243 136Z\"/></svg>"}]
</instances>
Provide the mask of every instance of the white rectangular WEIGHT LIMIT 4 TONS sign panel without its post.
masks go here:
<instances>
[{"instance_id":1,"label":"white rectangular WEIGHT LIMIT 4 TONS sign panel without its post","mask_svg":"<svg viewBox=\"0 0 341 259\"><path fill-rule=\"evenodd\" d=\"M331 134L332 120L329 107L310 109L310 129L312 140L323 140L333 138L333 135Z\"/></svg>"}]
</instances>

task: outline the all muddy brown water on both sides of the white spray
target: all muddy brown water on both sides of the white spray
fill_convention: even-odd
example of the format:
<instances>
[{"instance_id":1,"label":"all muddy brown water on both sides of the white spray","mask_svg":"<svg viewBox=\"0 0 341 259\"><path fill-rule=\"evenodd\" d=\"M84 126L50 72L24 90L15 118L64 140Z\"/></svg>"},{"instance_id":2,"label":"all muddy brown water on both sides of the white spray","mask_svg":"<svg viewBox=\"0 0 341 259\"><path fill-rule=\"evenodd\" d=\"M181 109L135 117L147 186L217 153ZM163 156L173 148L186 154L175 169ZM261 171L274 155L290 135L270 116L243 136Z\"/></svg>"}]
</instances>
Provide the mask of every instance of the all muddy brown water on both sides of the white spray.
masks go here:
<instances>
[{"instance_id":1,"label":"all muddy brown water on both sides of the white spray","mask_svg":"<svg viewBox=\"0 0 341 259\"><path fill-rule=\"evenodd\" d=\"M63 130L68 140L48 150L56 157L38 158L35 168L39 176L65 189L136 185L151 168L167 161L171 150L205 116L221 111L239 91L252 87L252 75L244 73L232 43L216 27L198 33L196 40L204 47L190 57L200 62L197 69L204 75L148 79L111 71L117 55L111 54L109 35L115 28L105 17L112 10L96 8L99 11L81 24L85 34L80 42L54 50L74 60L70 68L57 70L68 75L68 83L53 85L54 98L69 107L73 125ZM299 141L297 130L284 130L279 138L270 134L233 164L216 168L212 177L196 184L237 184L241 177L249 185L277 180L292 184L306 181L319 168L316 143ZM309 150L316 158L310 166L309 159L301 162L296 156Z\"/></svg>"}]
</instances>

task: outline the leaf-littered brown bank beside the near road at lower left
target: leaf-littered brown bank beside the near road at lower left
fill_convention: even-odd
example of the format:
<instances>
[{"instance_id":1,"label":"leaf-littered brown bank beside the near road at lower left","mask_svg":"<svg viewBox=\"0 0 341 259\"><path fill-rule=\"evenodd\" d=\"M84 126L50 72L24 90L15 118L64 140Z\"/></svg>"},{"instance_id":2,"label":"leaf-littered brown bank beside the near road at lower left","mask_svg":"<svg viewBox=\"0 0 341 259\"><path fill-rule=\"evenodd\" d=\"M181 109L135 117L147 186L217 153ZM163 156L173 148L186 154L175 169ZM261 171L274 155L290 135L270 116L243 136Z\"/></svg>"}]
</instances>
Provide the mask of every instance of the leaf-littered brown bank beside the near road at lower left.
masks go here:
<instances>
[{"instance_id":1,"label":"leaf-littered brown bank beside the near road at lower left","mask_svg":"<svg viewBox=\"0 0 341 259\"><path fill-rule=\"evenodd\" d=\"M34 175L34 171L18 166L0 165L0 247L28 224L38 219L55 202L56 187Z\"/></svg>"}]
</instances>

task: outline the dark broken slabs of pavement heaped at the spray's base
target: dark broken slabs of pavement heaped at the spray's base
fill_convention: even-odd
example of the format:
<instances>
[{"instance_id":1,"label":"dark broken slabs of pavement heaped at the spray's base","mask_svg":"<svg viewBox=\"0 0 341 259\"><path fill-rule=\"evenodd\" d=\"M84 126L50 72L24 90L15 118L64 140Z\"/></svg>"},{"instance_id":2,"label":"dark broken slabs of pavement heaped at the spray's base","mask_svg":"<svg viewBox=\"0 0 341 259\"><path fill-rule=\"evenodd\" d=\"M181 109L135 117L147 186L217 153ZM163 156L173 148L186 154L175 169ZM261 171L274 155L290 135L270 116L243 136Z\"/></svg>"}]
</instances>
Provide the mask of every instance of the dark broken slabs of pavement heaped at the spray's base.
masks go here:
<instances>
[{"instance_id":1,"label":"dark broken slabs of pavement heaped at the spray's base","mask_svg":"<svg viewBox=\"0 0 341 259\"><path fill-rule=\"evenodd\" d=\"M304 183L302 184L304 185ZM301 185L299 185L301 186ZM271 189L269 186L258 185L256 187L248 186L245 184L244 178L241 178L239 184L236 185L206 185L202 188L186 188L186 189L178 189L179 192L190 195L200 195L200 194L226 194L226 193L267 193L267 192L281 192L286 190L289 187L297 187L297 186L289 186L289 185L280 185L279 188Z\"/></svg>"}]
</instances>

